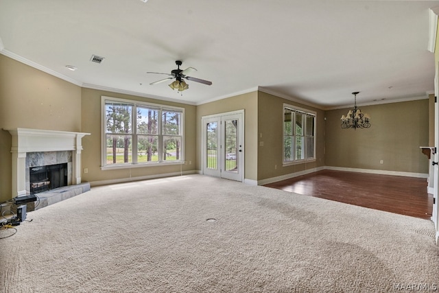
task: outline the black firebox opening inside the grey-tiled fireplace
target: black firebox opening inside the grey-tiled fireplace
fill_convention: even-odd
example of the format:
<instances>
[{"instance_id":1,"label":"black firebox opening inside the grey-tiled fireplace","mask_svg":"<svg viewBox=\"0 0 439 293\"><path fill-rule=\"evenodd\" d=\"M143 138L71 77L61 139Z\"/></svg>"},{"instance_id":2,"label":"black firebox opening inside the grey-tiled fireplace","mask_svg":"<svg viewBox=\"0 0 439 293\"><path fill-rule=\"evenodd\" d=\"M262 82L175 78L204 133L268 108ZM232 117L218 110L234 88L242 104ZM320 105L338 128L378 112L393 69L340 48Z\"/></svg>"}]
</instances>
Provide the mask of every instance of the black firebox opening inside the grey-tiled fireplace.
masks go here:
<instances>
[{"instance_id":1,"label":"black firebox opening inside the grey-tiled fireplace","mask_svg":"<svg viewBox=\"0 0 439 293\"><path fill-rule=\"evenodd\" d=\"M67 163L32 167L29 169L30 193L67 186Z\"/></svg>"}]
</instances>

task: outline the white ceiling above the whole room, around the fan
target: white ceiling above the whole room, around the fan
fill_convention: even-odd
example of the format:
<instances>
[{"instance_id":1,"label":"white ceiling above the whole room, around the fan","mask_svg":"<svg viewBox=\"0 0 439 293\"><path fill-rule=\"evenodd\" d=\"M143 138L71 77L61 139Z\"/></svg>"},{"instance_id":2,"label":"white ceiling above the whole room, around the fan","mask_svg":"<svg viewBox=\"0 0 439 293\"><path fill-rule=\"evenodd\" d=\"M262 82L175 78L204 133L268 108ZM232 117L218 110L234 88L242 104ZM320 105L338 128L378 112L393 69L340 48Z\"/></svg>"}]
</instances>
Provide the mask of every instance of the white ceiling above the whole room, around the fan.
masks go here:
<instances>
[{"instance_id":1,"label":"white ceiling above the whole room, around the fan","mask_svg":"<svg viewBox=\"0 0 439 293\"><path fill-rule=\"evenodd\" d=\"M1 53L93 89L188 104L264 91L319 108L427 97L439 1L1 0ZM91 62L95 54L105 58ZM183 93L176 69L198 69ZM78 67L69 71L65 66Z\"/></svg>"}]
</instances>

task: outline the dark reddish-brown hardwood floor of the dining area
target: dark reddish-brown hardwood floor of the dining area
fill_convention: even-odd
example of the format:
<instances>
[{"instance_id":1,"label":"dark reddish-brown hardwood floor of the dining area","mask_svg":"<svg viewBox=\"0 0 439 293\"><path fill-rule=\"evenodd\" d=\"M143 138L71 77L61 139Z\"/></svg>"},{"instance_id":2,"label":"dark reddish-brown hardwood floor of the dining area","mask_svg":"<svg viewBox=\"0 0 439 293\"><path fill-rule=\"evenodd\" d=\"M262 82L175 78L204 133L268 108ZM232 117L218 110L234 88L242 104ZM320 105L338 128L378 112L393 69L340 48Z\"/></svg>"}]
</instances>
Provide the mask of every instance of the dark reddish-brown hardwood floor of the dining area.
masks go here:
<instances>
[{"instance_id":1,"label":"dark reddish-brown hardwood floor of the dining area","mask_svg":"<svg viewBox=\"0 0 439 293\"><path fill-rule=\"evenodd\" d=\"M423 219L433 209L425 178L322 170L265 186Z\"/></svg>"}]
</instances>

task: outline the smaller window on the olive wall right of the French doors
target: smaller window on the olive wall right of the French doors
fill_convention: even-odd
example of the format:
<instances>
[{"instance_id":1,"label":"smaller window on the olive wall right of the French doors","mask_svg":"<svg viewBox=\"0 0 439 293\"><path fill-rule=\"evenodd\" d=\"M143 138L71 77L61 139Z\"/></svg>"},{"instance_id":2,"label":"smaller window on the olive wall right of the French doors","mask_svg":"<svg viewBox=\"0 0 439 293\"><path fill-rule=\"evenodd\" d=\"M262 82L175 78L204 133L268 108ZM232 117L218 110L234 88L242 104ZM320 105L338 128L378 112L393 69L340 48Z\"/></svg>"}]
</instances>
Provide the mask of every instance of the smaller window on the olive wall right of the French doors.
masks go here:
<instances>
[{"instance_id":1,"label":"smaller window on the olive wall right of the French doors","mask_svg":"<svg viewBox=\"0 0 439 293\"><path fill-rule=\"evenodd\" d=\"M315 159L316 113L284 104L283 163Z\"/></svg>"}]
</instances>

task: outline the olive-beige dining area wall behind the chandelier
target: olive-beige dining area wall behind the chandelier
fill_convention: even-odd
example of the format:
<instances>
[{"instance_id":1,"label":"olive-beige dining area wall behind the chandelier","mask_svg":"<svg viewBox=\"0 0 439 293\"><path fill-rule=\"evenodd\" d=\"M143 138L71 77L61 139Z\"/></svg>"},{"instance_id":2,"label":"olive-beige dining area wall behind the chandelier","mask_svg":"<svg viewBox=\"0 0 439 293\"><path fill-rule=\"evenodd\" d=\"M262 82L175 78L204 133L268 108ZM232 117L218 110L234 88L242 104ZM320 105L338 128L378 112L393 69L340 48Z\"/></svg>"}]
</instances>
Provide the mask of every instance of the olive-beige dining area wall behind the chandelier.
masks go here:
<instances>
[{"instance_id":1,"label":"olive-beige dining area wall behind the chandelier","mask_svg":"<svg viewBox=\"0 0 439 293\"><path fill-rule=\"evenodd\" d=\"M419 148L429 143L428 99L359 108L370 115L370 128L341 129L348 108L326 112L327 166L428 174Z\"/></svg>"}]
</instances>

